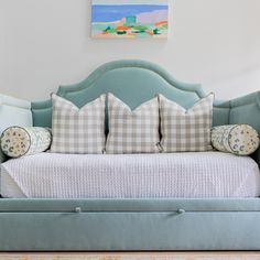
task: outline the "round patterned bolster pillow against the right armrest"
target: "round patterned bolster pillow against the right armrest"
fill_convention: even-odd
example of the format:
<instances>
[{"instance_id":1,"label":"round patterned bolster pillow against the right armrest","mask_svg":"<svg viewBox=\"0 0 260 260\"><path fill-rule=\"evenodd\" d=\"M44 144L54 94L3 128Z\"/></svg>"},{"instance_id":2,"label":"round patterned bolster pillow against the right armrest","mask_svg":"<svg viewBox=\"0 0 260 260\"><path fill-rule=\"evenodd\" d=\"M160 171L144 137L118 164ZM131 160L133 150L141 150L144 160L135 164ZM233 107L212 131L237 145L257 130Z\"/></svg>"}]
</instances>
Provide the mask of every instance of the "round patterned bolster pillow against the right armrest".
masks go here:
<instances>
[{"instance_id":1,"label":"round patterned bolster pillow against the right armrest","mask_svg":"<svg viewBox=\"0 0 260 260\"><path fill-rule=\"evenodd\" d=\"M259 147L259 136L249 124L227 124L212 129L212 144L221 152L249 155Z\"/></svg>"}]
</instances>

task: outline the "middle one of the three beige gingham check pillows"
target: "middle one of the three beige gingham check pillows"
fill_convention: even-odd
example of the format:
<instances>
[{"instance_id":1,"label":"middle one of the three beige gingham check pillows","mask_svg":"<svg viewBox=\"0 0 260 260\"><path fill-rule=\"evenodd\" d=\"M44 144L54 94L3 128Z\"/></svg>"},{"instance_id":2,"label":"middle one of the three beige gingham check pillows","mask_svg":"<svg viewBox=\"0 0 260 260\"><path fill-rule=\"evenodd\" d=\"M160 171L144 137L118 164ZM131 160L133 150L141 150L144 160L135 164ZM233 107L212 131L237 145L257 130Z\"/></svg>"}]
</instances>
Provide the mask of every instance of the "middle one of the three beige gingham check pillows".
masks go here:
<instances>
[{"instance_id":1,"label":"middle one of the three beige gingham check pillows","mask_svg":"<svg viewBox=\"0 0 260 260\"><path fill-rule=\"evenodd\" d=\"M109 134L107 153L159 152L159 102L153 98L133 111L108 94Z\"/></svg>"}]
</instances>

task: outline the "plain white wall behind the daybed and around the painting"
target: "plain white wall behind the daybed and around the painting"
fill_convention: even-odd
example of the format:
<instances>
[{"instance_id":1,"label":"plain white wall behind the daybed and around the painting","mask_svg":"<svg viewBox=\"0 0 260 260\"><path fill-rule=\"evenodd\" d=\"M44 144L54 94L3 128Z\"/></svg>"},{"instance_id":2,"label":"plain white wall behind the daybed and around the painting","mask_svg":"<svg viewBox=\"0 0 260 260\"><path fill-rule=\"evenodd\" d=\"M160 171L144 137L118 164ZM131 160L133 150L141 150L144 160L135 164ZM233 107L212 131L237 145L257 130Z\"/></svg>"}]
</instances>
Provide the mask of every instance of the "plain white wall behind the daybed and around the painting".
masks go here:
<instances>
[{"instance_id":1,"label":"plain white wall behind the daybed and around the painting","mask_svg":"<svg viewBox=\"0 0 260 260\"><path fill-rule=\"evenodd\" d=\"M219 99L260 89L260 0L169 0L169 40L93 40L90 0L0 0L0 93L45 99L120 58L155 62Z\"/></svg>"}]
</instances>

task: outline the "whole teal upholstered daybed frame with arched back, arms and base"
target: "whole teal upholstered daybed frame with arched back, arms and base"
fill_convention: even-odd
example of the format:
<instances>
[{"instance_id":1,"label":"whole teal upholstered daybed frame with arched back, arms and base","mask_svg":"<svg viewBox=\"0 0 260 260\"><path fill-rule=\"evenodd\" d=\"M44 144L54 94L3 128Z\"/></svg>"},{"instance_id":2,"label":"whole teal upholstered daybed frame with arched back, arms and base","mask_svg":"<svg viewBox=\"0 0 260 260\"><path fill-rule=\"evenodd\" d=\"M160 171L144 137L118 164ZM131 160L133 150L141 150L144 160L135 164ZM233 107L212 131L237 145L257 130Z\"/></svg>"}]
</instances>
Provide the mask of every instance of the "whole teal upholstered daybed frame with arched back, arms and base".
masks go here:
<instances>
[{"instance_id":1,"label":"whole teal upholstered daybed frame with arched back, arms and base","mask_svg":"<svg viewBox=\"0 0 260 260\"><path fill-rule=\"evenodd\" d=\"M109 91L131 108L158 93L186 108L205 96L199 85L142 61L105 64L57 94L82 107ZM51 127L51 100L0 96L0 132L13 124ZM232 123L260 132L260 91L215 102L214 126ZM260 150L252 156L260 165ZM0 251L53 250L260 250L260 198L0 198Z\"/></svg>"}]
</instances>

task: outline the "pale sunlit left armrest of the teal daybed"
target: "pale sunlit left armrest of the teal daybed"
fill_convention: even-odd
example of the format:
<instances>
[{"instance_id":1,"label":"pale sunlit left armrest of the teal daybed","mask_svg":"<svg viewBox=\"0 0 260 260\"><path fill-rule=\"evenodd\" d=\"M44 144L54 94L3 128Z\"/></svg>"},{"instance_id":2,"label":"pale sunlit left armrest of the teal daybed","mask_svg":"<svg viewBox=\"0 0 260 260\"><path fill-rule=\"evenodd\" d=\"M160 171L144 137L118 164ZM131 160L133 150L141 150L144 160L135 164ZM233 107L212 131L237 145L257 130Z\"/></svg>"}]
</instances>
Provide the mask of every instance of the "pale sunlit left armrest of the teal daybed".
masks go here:
<instances>
[{"instance_id":1,"label":"pale sunlit left armrest of the teal daybed","mask_svg":"<svg viewBox=\"0 0 260 260\"><path fill-rule=\"evenodd\" d=\"M0 134L11 126L32 127L31 102L0 94ZM0 149L0 163L4 160Z\"/></svg>"}]
</instances>

